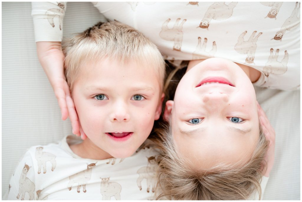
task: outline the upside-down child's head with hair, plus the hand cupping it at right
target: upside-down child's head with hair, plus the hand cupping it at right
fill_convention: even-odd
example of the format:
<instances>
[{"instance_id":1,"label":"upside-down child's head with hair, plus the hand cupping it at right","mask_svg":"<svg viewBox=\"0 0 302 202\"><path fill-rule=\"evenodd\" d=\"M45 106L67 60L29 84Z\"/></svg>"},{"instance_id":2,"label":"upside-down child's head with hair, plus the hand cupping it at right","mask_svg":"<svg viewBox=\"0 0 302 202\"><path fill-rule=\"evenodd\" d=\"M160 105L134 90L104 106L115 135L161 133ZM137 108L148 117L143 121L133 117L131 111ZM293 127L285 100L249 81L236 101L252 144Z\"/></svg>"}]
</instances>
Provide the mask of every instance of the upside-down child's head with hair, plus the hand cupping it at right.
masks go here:
<instances>
[{"instance_id":1,"label":"upside-down child's head with hair, plus the hand cupping it at right","mask_svg":"<svg viewBox=\"0 0 302 202\"><path fill-rule=\"evenodd\" d=\"M252 82L259 76L222 58L190 61L173 101L166 102L166 123L157 129L159 198L261 197L275 132L256 100Z\"/></svg>"}]
</instances>

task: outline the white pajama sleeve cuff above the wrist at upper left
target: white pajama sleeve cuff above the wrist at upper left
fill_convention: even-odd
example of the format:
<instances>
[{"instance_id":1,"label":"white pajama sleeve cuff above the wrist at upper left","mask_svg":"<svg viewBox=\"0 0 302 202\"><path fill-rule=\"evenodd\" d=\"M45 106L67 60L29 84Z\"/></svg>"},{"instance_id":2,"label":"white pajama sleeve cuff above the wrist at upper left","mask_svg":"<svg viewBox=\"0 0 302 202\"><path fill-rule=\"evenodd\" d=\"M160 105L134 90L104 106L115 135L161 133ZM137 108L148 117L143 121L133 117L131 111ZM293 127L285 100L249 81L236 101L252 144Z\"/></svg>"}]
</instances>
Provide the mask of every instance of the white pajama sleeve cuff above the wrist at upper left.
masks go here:
<instances>
[{"instance_id":1,"label":"white pajama sleeve cuff above the wrist at upper left","mask_svg":"<svg viewBox=\"0 0 302 202\"><path fill-rule=\"evenodd\" d=\"M35 42L62 41L66 2L32 2Z\"/></svg>"}]
</instances>

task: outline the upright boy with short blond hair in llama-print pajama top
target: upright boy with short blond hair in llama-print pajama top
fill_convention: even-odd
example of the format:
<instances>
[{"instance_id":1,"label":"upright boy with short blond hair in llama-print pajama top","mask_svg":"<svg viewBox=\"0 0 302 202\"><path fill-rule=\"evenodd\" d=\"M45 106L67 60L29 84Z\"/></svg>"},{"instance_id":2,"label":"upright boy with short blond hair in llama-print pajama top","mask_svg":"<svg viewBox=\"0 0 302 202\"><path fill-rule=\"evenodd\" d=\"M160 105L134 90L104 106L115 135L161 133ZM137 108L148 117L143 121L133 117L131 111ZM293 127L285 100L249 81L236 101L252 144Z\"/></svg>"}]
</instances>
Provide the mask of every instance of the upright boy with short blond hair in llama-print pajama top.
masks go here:
<instances>
[{"instance_id":1,"label":"upright boy with short blond hair in llama-print pajama top","mask_svg":"<svg viewBox=\"0 0 302 202\"><path fill-rule=\"evenodd\" d=\"M66 40L63 52L66 79L88 138L66 136L29 148L11 177L8 199L150 198L156 152L136 151L161 114L162 55L141 33L119 22L98 23Z\"/></svg>"}]
</instances>

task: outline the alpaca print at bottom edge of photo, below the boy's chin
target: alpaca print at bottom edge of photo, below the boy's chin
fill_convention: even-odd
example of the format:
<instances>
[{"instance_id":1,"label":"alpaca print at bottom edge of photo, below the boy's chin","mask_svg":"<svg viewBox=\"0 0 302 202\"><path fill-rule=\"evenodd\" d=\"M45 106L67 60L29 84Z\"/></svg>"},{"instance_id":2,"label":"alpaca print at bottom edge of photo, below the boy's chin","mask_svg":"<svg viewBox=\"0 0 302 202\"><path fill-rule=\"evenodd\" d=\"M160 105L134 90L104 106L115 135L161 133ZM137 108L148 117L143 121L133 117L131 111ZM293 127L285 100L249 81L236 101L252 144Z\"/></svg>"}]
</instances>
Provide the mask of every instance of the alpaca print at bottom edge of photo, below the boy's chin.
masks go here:
<instances>
[{"instance_id":1,"label":"alpaca print at bottom edge of photo, below the boy's chin","mask_svg":"<svg viewBox=\"0 0 302 202\"><path fill-rule=\"evenodd\" d=\"M122 191L122 186L117 182L109 182L110 177L100 178L101 181L101 194L102 200L111 200L114 197L115 200L120 200L120 192Z\"/></svg>"}]
</instances>

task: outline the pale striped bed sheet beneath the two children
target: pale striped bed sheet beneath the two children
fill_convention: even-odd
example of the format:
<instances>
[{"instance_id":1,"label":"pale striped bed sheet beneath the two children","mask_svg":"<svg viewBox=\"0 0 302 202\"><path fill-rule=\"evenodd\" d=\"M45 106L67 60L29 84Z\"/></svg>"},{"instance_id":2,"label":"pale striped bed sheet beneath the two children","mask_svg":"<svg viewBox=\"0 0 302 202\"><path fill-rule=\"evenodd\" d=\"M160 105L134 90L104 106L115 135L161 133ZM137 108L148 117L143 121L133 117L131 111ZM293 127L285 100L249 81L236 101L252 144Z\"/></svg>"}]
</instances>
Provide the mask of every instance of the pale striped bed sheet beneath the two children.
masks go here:
<instances>
[{"instance_id":1,"label":"pale striped bed sheet beneath the two children","mask_svg":"<svg viewBox=\"0 0 302 202\"><path fill-rule=\"evenodd\" d=\"M64 36L104 17L90 2L69 2ZM2 2L2 196L26 149L71 134L37 59L30 2ZM300 200L300 90L256 88L276 131L275 164L264 200Z\"/></svg>"}]
</instances>

